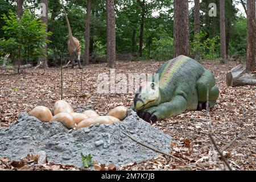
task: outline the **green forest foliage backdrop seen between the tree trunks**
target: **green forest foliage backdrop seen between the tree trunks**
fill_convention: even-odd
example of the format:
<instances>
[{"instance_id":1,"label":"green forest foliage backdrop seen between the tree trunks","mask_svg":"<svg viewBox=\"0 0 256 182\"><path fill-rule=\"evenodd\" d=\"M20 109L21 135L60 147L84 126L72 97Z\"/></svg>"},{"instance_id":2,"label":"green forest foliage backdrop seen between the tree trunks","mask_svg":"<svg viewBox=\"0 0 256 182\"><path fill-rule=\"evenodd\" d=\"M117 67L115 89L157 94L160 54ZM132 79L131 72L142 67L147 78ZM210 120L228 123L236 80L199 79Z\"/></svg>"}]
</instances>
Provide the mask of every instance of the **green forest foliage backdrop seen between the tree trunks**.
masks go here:
<instances>
[{"instance_id":1,"label":"green forest foliage backdrop seen between the tree trunks","mask_svg":"<svg viewBox=\"0 0 256 182\"><path fill-rule=\"evenodd\" d=\"M41 1L26 0L23 2L23 10L29 14L26 20L39 18L39 3ZM216 3L217 16L210 17L209 3ZM91 2L90 18L90 55L105 57L106 55L106 1L93 0ZM206 60L220 60L220 1L200 1L200 33L195 34L195 6L189 2L189 42L190 54ZM242 4L241 4L242 3ZM48 2L48 64L56 65L56 59L68 57L67 41L68 28L63 14L62 5L67 9L69 22L73 36L80 40L81 49L85 48L85 17L86 1L53 0ZM238 6L239 5L239 6ZM236 55L245 60L246 56L246 14L242 14L237 7L246 9L243 1L225 1L226 24L226 54ZM116 52L118 54L131 53L134 59L142 60L168 60L174 57L174 5L173 1L139 1L118 0L115 1L116 23ZM15 1L0 1L0 37L9 38L5 34L5 16L16 12ZM26 22L25 22L26 23ZM7 31L8 32L8 31ZM8 37L9 36L9 37ZM196 39L195 39L196 38ZM2 43L3 44L3 43ZM33 44L33 43L31 43ZM29 46L28 46L29 47ZM142 47L142 48L140 48ZM200 51L198 51L200 49ZM9 51L9 50L7 50ZM3 46L0 55L6 54ZM24 51L23 63L37 63L36 58L29 48ZM82 58L83 58L82 51Z\"/></svg>"}]
</instances>

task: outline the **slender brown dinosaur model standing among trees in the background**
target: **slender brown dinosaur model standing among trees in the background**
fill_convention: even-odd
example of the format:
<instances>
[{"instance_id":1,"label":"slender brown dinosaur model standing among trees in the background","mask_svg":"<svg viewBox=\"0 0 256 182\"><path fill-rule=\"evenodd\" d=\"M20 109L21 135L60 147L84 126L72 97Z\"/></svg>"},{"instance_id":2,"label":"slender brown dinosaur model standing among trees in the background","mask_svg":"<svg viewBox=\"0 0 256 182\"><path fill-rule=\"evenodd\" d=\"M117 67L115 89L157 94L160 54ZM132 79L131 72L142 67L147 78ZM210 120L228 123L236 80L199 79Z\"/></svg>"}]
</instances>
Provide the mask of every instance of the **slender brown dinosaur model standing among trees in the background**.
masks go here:
<instances>
[{"instance_id":1,"label":"slender brown dinosaur model standing among trees in the background","mask_svg":"<svg viewBox=\"0 0 256 182\"><path fill-rule=\"evenodd\" d=\"M63 10L64 10L65 17L66 17L67 24L68 24L68 52L69 52L69 55L71 56L72 68L74 68L74 65L75 65L75 52L77 52L77 55L78 55L77 60L79 63L79 69L82 69L82 65L81 65L81 61L80 61L80 55L81 55L80 42L77 38L73 37L72 31L71 31L71 26L69 24L68 16L67 16L67 13L66 13L64 7L63 7Z\"/></svg>"}]
</instances>

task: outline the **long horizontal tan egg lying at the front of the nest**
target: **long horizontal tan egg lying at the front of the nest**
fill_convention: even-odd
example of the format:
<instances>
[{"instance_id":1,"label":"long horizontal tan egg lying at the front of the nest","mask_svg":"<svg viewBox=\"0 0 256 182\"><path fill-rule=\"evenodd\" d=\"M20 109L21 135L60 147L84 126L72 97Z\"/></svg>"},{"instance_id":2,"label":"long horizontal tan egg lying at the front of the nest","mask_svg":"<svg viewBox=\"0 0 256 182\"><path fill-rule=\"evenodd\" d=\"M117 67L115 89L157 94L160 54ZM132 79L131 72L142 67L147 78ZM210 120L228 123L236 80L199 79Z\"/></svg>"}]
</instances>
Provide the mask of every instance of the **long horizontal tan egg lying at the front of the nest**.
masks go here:
<instances>
[{"instance_id":1,"label":"long horizontal tan egg lying at the front of the nest","mask_svg":"<svg viewBox=\"0 0 256 182\"><path fill-rule=\"evenodd\" d=\"M96 124L113 124L113 118L111 119L110 117L106 116L98 116L98 117L92 117L85 119L84 121L81 121L77 125L77 129L80 129L82 127L89 127L90 125L96 125Z\"/></svg>"}]
</instances>

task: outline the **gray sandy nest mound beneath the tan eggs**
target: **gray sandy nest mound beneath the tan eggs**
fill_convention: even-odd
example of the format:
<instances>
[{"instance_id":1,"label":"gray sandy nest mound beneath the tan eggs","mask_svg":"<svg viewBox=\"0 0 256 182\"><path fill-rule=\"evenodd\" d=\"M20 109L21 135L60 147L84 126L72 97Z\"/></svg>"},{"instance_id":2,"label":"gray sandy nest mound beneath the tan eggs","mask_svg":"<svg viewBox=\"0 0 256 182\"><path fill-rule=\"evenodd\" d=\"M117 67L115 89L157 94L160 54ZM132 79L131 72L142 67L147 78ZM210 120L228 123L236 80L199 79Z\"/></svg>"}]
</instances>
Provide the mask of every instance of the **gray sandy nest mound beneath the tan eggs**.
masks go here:
<instances>
[{"instance_id":1,"label":"gray sandy nest mound beneath the tan eggs","mask_svg":"<svg viewBox=\"0 0 256 182\"><path fill-rule=\"evenodd\" d=\"M164 152L170 151L170 136L139 119L134 111L113 125L94 125L79 130L68 130L59 122L43 123L27 113L18 121L0 130L0 157L12 160L27 154L45 151L49 162L82 167L80 152L91 154L93 161L123 166L158 156L156 152L133 142L122 131Z\"/></svg>"}]
</instances>

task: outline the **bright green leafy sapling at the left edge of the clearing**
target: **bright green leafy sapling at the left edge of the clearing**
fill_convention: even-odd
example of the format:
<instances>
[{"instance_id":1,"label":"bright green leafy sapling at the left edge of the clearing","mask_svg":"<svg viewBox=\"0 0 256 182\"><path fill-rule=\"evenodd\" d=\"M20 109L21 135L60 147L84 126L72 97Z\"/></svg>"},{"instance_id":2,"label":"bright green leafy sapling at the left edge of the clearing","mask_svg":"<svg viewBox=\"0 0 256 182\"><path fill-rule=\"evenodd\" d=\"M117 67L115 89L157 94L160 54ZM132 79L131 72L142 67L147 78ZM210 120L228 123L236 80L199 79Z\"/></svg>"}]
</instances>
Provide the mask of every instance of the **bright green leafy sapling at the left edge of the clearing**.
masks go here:
<instances>
[{"instance_id":1,"label":"bright green leafy sapling at the left edge of the clearing","mask_svg":"<svg viewBox=\"0 0 256 182\"><path fill-rule=\"evenodd\" d=\"M10 12L3 14L5 26L2 27L5 38L0 39L0 55L10 53L13 59L36 60L46 56L44 46L49 43L46 25L41 20L35 19L28 10L24 10L21 19Z\"/></svg>"}]
</instances>

